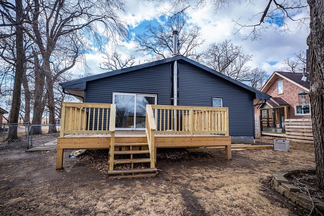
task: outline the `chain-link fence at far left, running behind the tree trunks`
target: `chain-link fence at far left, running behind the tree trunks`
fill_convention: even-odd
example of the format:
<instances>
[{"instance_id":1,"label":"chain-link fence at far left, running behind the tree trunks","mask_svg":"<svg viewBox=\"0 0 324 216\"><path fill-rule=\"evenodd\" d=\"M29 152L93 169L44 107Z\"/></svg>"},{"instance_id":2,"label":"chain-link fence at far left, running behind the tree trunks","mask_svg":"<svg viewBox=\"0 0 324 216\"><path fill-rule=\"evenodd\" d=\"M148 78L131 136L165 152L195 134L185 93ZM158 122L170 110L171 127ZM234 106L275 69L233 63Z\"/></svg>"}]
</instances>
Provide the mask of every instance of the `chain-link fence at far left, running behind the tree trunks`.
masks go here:
<instances>
[{"instance_id":1,"label":"chain-link fence at far left, running behind the tree trunks","mask_svg":"<svg viewBox=\"0 0 324 216\"><path fill-rule=\"evenodd\" d=\"M0 142L25 141L29 149L50 142L59 136L60 124L0 124Z\"/></svg>"}]
</instances>

